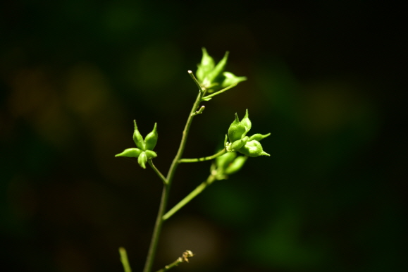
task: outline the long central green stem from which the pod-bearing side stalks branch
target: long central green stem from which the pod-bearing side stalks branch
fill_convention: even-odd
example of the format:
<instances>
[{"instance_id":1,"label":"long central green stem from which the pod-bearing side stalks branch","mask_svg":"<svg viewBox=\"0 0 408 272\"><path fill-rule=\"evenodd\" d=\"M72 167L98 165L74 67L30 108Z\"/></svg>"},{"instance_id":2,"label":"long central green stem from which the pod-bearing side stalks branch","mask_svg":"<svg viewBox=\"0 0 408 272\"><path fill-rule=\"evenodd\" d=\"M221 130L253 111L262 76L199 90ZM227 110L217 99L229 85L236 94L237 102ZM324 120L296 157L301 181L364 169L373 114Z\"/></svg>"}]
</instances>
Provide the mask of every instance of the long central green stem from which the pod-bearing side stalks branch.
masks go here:
<instances>
[{"instance_id":1,"label":"long central green stem from which the pod-bearing side stalks branch","mask_svg":"<svg viewBox=\"0 0 408 272\"><path fill-rule=\"evenodd\" d=\"M189 73L193 78L194 75L192 75L191 71L189 71ZM147 253L147 259L146 259L146 263L144 264L143 272L152 271L154 256L156 255L157 244L159 242L159 236L161 233L161 226L163 225L163 215L166 211L166 206L168 202L168 194L170 192L171 182L173 181L175 169L180 163L179 160L181 159L181 156L183 156L185 144L187 142L187 135L188 135L188 132L190 131L192 119L194 118L195 111L197 111L199 107L203 94L204 92L202 92L202 90L200 89L199 94L197 95L197 99L195 100L194 105L192 106L190 115L188 116L187 123L185 124L185 128L183 130L183 137L181 138L181 142L180 142L180 147L178 147L178 152L175 155L175 158L173 159L173 163L171 163L170 169L168 169L168 173L166 177L167 184L163 185L163 191L161 192L159 212L157 214L156 223L154 224L152 240L150 241L149 252Z\"/></svg>"}]
</instances>

